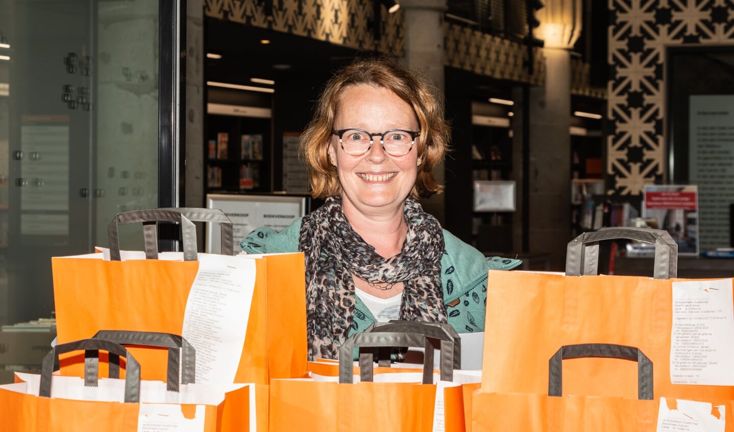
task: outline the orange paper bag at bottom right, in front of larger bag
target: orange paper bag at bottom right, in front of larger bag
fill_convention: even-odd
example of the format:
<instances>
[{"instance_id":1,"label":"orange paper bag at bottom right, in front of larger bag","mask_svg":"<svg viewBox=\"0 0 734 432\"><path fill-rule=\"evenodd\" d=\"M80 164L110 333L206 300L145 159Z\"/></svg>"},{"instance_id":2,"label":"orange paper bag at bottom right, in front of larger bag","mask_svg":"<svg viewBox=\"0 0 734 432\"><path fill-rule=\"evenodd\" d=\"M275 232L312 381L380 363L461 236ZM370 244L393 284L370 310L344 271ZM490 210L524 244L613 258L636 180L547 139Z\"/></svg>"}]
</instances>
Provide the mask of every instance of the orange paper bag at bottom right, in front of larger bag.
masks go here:
<instances>
[{"instance_id":1,"label":"orange paper bag at bottom right, in front of larger bag","mask_svg":"<svg viewBox=\"0 0 734 432\"><path fill-rule=\"evenodd\" d=\"M564 363L586 362L592 360L589 356L609 359L608 366L613 371L625 363L636 367L636 398L563 395L561 360L567 359ZM473 395L472 431L733 430L730 424L724 429L725 417L730 415L730 402L653 400L653 364L638 348L606 344L569 345L553 355L549 370L547 395L476 392Z\"/></svg>"}]
</instances>

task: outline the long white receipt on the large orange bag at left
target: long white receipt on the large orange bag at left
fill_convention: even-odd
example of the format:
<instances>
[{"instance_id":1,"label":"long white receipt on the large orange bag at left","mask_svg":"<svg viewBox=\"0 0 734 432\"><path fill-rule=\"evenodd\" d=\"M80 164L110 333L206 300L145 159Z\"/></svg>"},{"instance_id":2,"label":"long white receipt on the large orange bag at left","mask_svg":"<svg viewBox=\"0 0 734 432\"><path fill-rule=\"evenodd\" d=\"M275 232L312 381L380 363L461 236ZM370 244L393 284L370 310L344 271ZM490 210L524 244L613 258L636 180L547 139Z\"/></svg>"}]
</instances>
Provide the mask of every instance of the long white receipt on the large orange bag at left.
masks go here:
<instances>
[{"instance_id":1,"label":"long white receipt on the large orange bag at left","mask_svg":"<svg viewBox=\"0 0 734 432\"><path fill-rule=\"evenodd\" d=\"M181 332L196 350L198 384L234 381L254 290L254 260L199 255Z\"/></svg>"}]
</instances>

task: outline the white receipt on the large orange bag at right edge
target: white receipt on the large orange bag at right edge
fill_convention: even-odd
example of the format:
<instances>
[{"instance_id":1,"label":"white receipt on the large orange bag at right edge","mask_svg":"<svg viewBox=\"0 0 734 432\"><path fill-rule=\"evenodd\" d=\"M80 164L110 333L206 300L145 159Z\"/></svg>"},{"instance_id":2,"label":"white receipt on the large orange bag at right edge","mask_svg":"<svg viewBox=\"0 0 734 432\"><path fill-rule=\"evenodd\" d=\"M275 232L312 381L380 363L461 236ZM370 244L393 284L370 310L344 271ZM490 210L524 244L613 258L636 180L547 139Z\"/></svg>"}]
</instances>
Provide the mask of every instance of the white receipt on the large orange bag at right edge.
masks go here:
<instances>
[{"instance_id":1,"label":"white receipt on the large orange bag at right edge","mask_svg":"<svg viewBox=\"0 0 734 432\"><path fill-rule=\"evenodd\" d=\"M672 384L734 385L732 280L672 282Z\"/></svg>"}]
</instances>

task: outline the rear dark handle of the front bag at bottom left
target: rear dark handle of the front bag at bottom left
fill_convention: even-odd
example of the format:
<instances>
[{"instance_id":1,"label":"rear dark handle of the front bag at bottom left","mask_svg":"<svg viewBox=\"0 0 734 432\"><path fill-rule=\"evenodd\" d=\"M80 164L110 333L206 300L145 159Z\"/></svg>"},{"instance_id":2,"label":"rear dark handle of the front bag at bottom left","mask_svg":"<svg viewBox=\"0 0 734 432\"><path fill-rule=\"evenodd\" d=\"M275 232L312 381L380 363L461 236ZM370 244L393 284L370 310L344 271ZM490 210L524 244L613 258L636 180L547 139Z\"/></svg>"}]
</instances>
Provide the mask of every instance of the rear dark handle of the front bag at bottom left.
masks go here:
<instances>
[{"instance_id":1,"label":"rear dark handle of the front bag at bottom left","mask_svg":"<svg viewBox=\"0 0 734 432\"><path fill-rule=\"evenodd\" d=\"M109 340L120 345L141 345L168 348L166 389L178 392L180 384L196 380L196 351L178 334L133 332L128 330L100 330L92 339ZM180 379L179 379L180 375ZM109 378L120 378L120 357L109 353Z\"/></svg>"}]
</instances>

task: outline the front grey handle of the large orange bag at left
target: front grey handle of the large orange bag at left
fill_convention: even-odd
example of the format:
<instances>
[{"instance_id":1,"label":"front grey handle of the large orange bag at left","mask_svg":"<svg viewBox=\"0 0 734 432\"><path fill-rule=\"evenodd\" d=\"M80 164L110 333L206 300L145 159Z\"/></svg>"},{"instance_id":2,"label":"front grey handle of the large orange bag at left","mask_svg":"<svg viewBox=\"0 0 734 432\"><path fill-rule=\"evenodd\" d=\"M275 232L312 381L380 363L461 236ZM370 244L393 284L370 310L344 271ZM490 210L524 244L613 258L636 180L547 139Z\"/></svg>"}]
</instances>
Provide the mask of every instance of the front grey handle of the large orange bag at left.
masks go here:
<instances>
[{"instance_id":1,"label":"front grey handle of the large orange bag at left","mask_svg":"<svg viewBox=\"0 0 734 432\"><path fill-rule=\"evenodd\" d=\"M118 213L107 226L107 237L109 239L109 258L120 261L120 238L117 227L124 224L143 224L143 239L145 241L145 259L158 259L158 229L156 222L178 222L181 225L181 243L183 244L183 260L195 261L197 259L196 227L181 212L150 209L134 210Z\"/></svg>"}]
</instances>

